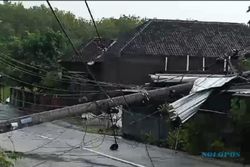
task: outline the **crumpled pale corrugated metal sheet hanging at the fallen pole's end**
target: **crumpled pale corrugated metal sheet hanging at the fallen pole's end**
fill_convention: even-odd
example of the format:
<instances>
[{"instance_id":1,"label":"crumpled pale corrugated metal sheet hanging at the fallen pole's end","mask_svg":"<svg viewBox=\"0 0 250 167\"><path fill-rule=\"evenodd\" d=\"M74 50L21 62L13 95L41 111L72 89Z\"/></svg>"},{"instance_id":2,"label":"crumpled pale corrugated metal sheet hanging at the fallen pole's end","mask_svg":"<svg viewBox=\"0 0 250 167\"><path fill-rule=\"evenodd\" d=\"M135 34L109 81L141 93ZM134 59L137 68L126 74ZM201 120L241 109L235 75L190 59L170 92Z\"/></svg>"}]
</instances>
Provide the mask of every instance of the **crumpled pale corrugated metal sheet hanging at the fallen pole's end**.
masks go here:
<instances>
[{"instance_id":1,"label":"crumpled pale corrugated metal sheet hanging at the fallen pole's end","mask_svg":"<svg viewBox=\"0 0 250 167\"><path fill-rule=\"evenodd\" d=\"M197 113L214 88L221 87L234 78L236 76L220 78L202 77L196 79L189 95L170 103L170 119L175 120L178 117L182 123L185 123Z\"/></svg>"}]
</instances>

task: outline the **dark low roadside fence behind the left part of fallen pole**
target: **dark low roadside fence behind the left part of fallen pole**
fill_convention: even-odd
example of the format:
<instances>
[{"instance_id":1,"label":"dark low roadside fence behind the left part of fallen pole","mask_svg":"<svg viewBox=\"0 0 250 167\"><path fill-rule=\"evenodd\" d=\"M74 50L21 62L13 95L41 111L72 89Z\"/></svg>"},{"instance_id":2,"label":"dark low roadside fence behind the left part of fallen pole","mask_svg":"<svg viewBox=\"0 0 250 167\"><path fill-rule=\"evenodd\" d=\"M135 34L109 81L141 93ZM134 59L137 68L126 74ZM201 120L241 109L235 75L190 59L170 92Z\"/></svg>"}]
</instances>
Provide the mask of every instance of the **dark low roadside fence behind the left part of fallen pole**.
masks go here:
<instances>
[{"instance_id":1,"label":"dark low roadside fence behind the left part of fallen pole","mask_svg":"<svg viewBox=\"0 0 250 167\"><path fill-rule=\"evenodd\" d=\"M110 97L128 94L121 90L112 90L108 93ZM106 95L100 91L80 94L47 94L31 92L19 87L10 88L10 104L31 112L52 110L105 98Z\"/></svg>"}]
</instances>

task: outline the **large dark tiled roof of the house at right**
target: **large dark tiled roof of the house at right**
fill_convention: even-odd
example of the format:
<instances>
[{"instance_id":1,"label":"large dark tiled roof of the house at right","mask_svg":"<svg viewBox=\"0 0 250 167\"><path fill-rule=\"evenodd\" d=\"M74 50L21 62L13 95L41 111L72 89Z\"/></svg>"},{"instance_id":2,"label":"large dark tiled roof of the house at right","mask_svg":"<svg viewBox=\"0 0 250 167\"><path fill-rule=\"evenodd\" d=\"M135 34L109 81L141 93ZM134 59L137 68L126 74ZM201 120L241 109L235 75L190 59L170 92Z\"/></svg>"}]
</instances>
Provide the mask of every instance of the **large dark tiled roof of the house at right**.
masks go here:
<instances>
[{"instance_id":1,"label":"large dark tiled roof of the house at right","mask_svg":"<svg viewBox=\"0 0 250 167\"><path fill-rule=\"evenodd\" d=\"M240 23L149 20L118 38L115 55L222 56L250 46L250 28Z\"/></svg>"}]
</instances>

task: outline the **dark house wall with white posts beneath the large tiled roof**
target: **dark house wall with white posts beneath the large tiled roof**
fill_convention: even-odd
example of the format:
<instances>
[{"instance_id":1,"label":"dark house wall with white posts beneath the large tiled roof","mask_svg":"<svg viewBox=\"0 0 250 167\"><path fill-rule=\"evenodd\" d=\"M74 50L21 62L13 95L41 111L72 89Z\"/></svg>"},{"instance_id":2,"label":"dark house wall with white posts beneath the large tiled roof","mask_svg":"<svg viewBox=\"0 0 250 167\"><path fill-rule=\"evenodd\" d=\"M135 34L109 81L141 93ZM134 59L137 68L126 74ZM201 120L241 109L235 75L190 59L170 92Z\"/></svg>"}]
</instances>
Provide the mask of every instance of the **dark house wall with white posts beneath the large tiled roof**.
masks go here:
<instances>
[{"instance_id":1,"label":"dark house wall with white posts beneath the large tiled roof","mask_svg":"<svg viewBox=\"0 0 250 167\"><path fill-rule=\"evenodd\" d=\"M223 62L216 61L216 57L206 58L203 71L203 58L189 59L187 71L186 56L168 56L167 71L165 71L165 57L163 55L122 55L121 57L107 58L100 71L103 80L122 84L144 84L150 82L149 74L154 73L181 73L181 74L224 74Z\"/></svg>"}]
</instances>

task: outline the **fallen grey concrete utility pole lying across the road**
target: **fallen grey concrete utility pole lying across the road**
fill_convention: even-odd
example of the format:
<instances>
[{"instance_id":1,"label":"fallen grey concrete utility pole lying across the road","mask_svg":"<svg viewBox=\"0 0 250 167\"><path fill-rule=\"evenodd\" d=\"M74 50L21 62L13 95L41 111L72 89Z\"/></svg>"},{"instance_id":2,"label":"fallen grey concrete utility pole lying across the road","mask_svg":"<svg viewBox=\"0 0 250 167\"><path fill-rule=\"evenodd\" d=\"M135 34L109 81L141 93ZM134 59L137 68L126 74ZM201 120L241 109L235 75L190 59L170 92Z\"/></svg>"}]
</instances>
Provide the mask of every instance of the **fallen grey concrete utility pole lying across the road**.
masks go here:
<instances>
[{"instance_id":1,"label":"fallen grey concrete utility pole lying across the road","mask_svg":"<svg viewBox=\"0 0 250 167\"><path fill-rule=\"evenodd\" d=\"M129 94L125 96L113 97L112 99L103 99L94 102L88 102L84 104L44 111L40 113L34 113L31 115L17 117L10 120L4 120L0 122L0 133L4 133L14 129L20 129L25 126L32 126L43 122L50 122L65 117L77 116L83 113L91 112L94 114L98 114L101 112L100 110L105 111L108 108L115 107L117 105L126 105L141 102L142 100L145 100L145 98L149 100L162 100L164 98L167 98L171 93L189 92L192 86L193 83L190 82L171 87L150 90L148 92L142 91L139 93Z\"/></svg>"}]
</instances>

